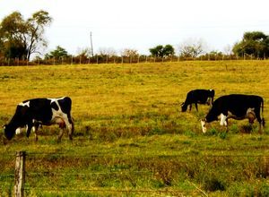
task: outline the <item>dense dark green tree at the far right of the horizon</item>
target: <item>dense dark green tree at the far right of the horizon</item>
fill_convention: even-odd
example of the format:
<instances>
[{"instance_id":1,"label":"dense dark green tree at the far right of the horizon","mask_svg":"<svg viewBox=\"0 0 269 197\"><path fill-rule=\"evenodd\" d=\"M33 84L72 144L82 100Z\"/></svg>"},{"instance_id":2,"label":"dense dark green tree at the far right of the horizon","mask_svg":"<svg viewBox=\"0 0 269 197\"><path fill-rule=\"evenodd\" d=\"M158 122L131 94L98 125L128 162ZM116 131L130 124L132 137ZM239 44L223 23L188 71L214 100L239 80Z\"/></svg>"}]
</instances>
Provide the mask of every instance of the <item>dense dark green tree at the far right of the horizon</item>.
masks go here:
<instances>
[{"instance_id":1,"label":"dense dark green tree at the far right of the horizon","mask_svg":"<svg viewBox=\"0 0 269 197\"><path fill-rule=\"evenodd\" d=\"M233 46L232 51L238 56L267 57L269 38L261 31L245 32L243 39Z\"/></svg>"}]
</instances>

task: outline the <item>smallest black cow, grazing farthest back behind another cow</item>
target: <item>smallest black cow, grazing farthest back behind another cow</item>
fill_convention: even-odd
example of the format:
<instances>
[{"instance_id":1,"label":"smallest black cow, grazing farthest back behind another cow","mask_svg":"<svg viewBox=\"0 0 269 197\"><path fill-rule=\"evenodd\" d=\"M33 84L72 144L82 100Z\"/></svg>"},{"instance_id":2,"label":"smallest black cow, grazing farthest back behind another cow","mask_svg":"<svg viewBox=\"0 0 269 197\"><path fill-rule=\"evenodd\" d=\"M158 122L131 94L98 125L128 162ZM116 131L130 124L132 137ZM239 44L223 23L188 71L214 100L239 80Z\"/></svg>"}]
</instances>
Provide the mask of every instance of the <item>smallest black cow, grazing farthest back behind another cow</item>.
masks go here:
<instances>
[{"instance_id":1,"label":"smallest black cow, grazing farthest back behind another cow","mask_svg":"<svg viewBox=\"0 0 269 197\"><path fill-rule=\"evenodd\" d=\"M187 106L189 106L189 111L191 111L193 103L195 104L196 111L198 111L198 103L212 106L214 95L214 90L191 90L187 93L185 102L181 104L181 110L186 112Z\"/></svg>"}]
</instances>

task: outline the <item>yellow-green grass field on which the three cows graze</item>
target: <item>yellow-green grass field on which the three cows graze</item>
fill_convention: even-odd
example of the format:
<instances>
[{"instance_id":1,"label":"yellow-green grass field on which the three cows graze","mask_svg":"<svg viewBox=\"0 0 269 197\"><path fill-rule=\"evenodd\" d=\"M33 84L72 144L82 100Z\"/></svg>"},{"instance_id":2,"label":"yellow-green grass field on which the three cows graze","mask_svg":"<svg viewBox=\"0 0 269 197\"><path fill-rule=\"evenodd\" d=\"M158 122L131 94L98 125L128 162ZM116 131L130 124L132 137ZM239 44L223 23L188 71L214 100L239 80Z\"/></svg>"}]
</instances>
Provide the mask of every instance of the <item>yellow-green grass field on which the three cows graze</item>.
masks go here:
<instances>
[{"instance_id":1,"label":"yellow-green grass field on which the three cows graze","mask_svg":"<svg viewBox=\"0 0 269 197\"><path fill-rule=\"evenodd\" d=\"M14 155L25 150L26 196L268 196L269 127L218 122L182 113L187 91L214 89L265 99L269 61L86 64L0 67L0 124L25 99L69 96L74 141L56 142L57 126L39 141L25 133L0 144L0 196L13 195ZM0 135L2 141L3 136Z\"/></svg>"}]
</instances>

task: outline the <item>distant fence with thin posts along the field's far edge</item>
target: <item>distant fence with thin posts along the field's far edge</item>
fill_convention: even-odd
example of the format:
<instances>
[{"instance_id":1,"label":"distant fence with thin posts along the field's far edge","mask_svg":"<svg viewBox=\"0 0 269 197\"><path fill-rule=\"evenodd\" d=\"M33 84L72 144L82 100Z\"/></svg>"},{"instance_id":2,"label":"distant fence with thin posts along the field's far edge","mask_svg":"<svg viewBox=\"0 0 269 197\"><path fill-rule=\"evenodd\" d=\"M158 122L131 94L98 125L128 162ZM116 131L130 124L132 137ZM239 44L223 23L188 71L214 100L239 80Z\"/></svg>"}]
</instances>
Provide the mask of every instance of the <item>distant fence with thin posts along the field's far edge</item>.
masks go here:
<instances>
[{"instance_id":1,"label":"distant fence with thin posts along the field's far edge","mask_svg":"<svg viewBox=\"0 0 269 197\"><path fill-rule=\"evenodd\" d=\"M253 56L235 55L205 55L199 57L183 56L108 56L96 55L87 56L68 56L51 59L36 59L32 61L19 58L0 58L0 65L60 65L60 64L139 64L139 63L161 63L161 62L180 62L180 61L225 61L225 60L266 60L266 58L254 58Z\"/></svg>"}]
</instances>

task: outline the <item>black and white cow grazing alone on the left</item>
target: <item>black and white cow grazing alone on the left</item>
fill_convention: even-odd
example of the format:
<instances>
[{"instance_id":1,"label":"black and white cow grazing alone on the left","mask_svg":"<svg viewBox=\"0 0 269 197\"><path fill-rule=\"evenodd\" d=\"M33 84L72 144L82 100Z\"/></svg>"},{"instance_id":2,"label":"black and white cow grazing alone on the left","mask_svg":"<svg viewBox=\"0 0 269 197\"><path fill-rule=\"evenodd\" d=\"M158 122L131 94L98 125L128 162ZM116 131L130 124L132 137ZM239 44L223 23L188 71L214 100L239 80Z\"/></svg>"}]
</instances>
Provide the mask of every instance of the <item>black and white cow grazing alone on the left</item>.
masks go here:
<instances>
[{"instance_id":1,"label":"black and white cow grazing alone on the left","mask_svg":"<svg viewBox=\"0 0 269 197\"><path fill-rule=\"evenodd\" d=\"M71 116L72 100L69 97L57 99L29 99L20 103L9 124L4 125L4 136L11 140L15 133L26 127L26 136L30 136L30 130L35 133L35 140L38 141L39 125L58 124L62 128L58 135L58 141L67 128L69 139L73 139L74 122Z\"/></svg>"}]
</instances>

